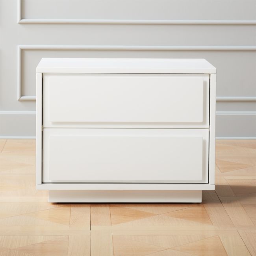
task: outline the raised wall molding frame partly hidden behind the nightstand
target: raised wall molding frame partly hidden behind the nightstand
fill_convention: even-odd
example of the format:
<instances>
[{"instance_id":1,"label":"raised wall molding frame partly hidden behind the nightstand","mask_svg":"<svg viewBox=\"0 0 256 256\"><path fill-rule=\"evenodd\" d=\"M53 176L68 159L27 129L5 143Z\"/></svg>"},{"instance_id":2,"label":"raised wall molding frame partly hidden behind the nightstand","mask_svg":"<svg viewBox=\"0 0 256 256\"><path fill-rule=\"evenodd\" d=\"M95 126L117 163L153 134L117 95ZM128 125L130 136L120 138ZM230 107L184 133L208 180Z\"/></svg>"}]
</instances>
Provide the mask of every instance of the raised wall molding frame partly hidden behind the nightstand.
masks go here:
<instances>
[{"instance_id":1,"label":"raised wall molding frame partly hidden behind the nightstand","mask_svg":"<svg viewBox=\"0 0 256 256\"><path fill-rule=\"evenodd\" d=\"M35 101L35 96L22 95L22 50L255 51L256 46L18 45L17 99ZM256 101L256 96L217 96L217 101Z\"/></svg>"}]
</instances>

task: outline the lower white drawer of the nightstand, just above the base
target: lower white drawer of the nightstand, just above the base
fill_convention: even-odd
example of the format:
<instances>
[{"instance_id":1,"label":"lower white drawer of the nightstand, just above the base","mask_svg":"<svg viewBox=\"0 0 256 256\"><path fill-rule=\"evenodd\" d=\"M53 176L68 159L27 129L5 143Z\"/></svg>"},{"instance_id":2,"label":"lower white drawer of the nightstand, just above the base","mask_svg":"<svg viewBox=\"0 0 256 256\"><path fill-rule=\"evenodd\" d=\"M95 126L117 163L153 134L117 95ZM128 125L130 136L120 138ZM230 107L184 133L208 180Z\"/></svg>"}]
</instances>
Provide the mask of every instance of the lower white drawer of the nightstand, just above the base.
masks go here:
<instances>
[{"instance_id":1,"label":"lower white drawer of the nightstand, just above the base","mask_svg":"<svg viewBox=\"0 0 256 256\"><path fill-rule=\"evenodd\" d=\"M207 129L43 129L43 182L208 183Z\"/></svg>"}]
</instances>

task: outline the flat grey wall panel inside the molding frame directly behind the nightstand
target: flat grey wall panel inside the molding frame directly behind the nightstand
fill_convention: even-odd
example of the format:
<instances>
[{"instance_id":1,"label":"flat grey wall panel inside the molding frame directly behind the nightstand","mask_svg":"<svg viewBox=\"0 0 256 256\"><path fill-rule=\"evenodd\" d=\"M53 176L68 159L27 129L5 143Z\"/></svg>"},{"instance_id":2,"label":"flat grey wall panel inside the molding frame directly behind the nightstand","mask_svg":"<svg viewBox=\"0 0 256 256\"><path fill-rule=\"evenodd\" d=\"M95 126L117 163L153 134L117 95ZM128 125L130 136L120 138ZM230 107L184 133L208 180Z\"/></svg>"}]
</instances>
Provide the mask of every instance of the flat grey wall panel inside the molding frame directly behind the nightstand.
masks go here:
<instances>
[{"instance_id":1,"label":"flat grey wall panel inside the molding frame directly behind the nightstand","mask_svg":"<svg viewBox=\"0 0 256 256\"><path fill-rule=\"evenodd\" d=\"M71 48L71 49L70 49ZM35 95L35 68L41 58L204 58L217 67L217 96L256 96L256 51L223 50L22 50L22 94ZM104 49L104 48L103 48Z\"/></svg>"}]
</instances>

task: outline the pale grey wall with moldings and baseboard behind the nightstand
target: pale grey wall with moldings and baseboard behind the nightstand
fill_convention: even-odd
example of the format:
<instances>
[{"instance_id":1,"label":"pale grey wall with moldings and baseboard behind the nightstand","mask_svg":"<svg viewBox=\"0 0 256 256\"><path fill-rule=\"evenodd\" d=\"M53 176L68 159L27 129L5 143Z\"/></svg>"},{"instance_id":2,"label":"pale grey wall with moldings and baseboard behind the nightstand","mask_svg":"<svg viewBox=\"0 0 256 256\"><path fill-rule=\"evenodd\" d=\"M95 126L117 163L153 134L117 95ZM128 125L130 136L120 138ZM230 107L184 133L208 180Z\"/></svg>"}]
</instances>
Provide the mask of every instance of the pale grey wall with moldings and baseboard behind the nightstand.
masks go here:
<instances>
[{"instance_id":1,"label":"pale grey wall with moldings and baseboard behind the nightstand","mask_svg":"<svg viewBox=\"0 0 256 256\"><path fill-rule=\"evenodd\" d=\"M217 67L217 137L256 137L255 9L255 0L0 0L0 136L35 136L42 57L144 57L206 58Z\"/></svg>"}]
</instances>

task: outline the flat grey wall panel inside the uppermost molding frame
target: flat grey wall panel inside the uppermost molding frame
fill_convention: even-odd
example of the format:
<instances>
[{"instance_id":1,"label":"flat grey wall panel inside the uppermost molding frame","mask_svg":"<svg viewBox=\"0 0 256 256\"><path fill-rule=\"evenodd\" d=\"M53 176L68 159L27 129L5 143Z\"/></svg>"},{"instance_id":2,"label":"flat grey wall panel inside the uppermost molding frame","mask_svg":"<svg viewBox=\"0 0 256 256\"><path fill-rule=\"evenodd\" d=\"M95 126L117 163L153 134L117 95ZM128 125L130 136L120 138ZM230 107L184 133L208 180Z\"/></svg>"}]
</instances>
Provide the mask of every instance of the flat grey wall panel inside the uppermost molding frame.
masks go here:
<instances>
[{"instance_id":1,"label":"flat grey wall panel inside the uppermost molding frame","mask_svg":"<svg viewBox=\"0 0 256 256\"><path fill-rule=\"evenodd\" d=\"M21 0L22 19L254 20L254 0ZM210 8L209 8L210 7Z\"/></svg>"}]
</instances>

